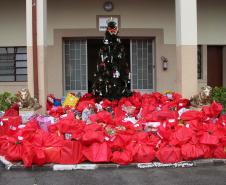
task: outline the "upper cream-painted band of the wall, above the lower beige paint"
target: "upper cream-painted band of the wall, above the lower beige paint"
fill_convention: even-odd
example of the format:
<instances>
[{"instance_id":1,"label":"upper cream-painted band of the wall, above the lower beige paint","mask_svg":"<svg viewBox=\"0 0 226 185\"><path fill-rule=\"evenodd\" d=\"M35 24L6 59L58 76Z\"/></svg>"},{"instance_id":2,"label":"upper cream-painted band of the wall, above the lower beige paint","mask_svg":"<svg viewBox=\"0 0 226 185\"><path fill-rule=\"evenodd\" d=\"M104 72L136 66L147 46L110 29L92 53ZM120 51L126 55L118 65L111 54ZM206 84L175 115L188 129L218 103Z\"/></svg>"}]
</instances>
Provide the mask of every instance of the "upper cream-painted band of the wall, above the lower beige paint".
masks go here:
<instances>
[{"instance_id":1,"label":"upper cream-painted band of the wall, above the lower beige paint","mask_svg":"<svg viewBox=\"0 0 226 185\"><path fill-rule=\"evenodd\" d=\"M114 0L115 9L102 8L105 0L48 0L48 44L54 29L95 28L96 15L121 15L122 28L164 30L164 43L175 44L174 0ZM26 45L26 0L0 0L0 46ZM226 1L198 0L198 43L226 44Z\"/></svg>"}]
</instances>

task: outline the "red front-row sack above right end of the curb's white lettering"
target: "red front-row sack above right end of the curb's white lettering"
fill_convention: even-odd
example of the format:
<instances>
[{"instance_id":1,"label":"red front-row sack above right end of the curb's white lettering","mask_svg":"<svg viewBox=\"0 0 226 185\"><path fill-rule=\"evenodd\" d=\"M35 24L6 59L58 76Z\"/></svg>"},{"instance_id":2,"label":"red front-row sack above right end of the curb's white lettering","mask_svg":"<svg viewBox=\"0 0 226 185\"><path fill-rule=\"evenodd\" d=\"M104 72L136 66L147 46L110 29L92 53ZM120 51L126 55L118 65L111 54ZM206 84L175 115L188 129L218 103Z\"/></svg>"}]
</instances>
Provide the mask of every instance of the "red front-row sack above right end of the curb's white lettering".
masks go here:
<instances>
[{"instance_id":1,"label":"red front-row sack above right end of the curb's white lettering","mask_svg":"<svg viewBox=\"0 0 226 185\"><path fill-rule=\"evenodd\" d=\"M181 153L185 160L198 159L204 155L204 152L201 146L193 145L190 143L182 145Z\"/></svg>"}]
</instances>

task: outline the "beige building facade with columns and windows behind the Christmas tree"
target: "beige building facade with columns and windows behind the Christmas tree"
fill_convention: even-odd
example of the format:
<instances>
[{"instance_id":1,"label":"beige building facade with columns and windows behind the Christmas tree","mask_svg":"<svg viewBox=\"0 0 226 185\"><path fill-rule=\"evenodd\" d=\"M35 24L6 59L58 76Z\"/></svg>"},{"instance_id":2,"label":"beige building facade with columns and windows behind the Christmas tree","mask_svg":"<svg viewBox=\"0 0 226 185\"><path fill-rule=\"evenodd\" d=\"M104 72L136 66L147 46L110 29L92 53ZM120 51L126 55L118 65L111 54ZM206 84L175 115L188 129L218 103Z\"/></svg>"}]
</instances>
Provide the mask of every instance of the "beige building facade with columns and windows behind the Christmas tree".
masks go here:
<instances>
[{"instance_id":1,"label":"beige building facade with columns and windows behind the Christmas tree","mask_svg":"<svg viewBox=\"0 0 226 185\"><path fill-rule=\"evenodd\" d=\"M224 0L0 0L0 92L88 92L104 37L118 21L131 68L131 89L226 86Z\"/></svg>"}]
</instances>

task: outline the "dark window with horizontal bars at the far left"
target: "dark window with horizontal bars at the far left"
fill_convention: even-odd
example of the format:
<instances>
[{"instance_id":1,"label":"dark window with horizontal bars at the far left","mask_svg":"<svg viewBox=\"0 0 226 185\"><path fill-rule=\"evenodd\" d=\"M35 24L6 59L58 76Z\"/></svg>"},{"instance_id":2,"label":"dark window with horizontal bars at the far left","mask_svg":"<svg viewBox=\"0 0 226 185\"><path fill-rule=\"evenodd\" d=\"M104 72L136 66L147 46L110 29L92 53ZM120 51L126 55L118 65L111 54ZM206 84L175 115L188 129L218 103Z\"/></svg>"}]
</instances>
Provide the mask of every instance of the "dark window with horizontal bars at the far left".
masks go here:
<instances>
[{"instance_id":1,"label":"dark window with horizontal bars at the far left","mask_svg":"<svg viewBox=\"0 0 226 185\"><path fill-rule=\"evenodd\" d=\"M0 47L0 81L27 81L26 47Z\"/></svg>"}]
</instances>

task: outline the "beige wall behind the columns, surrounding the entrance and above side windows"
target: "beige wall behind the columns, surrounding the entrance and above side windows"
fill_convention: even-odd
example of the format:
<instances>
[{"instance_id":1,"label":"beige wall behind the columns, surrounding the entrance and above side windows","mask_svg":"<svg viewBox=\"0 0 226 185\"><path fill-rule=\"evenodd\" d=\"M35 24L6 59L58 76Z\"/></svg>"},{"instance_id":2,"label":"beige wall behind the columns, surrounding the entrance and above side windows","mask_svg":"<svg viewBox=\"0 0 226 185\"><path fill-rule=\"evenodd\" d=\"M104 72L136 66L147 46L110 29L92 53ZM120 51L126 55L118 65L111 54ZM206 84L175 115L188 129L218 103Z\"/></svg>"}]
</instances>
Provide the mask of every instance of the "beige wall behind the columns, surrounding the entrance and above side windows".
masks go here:
<instances>
[{"instance_id":1,"label":"beige wall behind the columns, surrounding the entrance and above side windows","mask_svg":"<svg viewBox=\"0 0 226 185\"><path fill-rule=\"evenodd\" d=\"M96 15L120 15L120 36L129 36L128 30L139 29L140 32L133 32L131 36L156 37L156 90L174 90L176 84L174 0L114 0L115 8L112 12L103 10L104 1L48 0L48 92L55 93L57 96L63 93L62 38L103 36L103 33L96 29ZM0 3L0 46L26 45L26 1L0 0ZM225 0L198 0L199 44L226 45L225 7ZM145 34L142 33L142 29ZM81 33L81 30L86 33ZM150 32L146 33L148 30ZM153 30L158 31L155 33ZM161 56L169 60L167 71L162 70ZM202 86L205 83L204 79L199 85ZM13 86L1 86L4 84L0 83L0 87L6 90L9 87L13 90L14 87L15 89L21 87L19 83L14 83Z\"/></svg>"}]
</instances>

